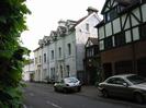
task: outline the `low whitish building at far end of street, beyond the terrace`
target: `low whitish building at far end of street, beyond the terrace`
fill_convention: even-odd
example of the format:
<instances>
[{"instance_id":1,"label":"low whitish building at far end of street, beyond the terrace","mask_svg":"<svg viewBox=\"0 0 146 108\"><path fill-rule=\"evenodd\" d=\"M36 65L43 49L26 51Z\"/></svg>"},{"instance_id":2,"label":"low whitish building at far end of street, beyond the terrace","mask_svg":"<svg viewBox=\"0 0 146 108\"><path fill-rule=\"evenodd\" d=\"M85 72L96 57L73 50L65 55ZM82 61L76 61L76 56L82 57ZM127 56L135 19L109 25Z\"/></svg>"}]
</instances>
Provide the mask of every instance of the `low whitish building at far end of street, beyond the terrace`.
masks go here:
<instances>
[{"instance_id":1,"label":"low whitish building at far end of street, beyond the terrace","mask_svg":"<svg viewBox=\"0 0 146 108\"><path fill-rule=\"evenodd\" d=\"M32 59L30 63L25 64L23 68L23 81L34 81L34 60Z\"/></svg>"}]
</instances>

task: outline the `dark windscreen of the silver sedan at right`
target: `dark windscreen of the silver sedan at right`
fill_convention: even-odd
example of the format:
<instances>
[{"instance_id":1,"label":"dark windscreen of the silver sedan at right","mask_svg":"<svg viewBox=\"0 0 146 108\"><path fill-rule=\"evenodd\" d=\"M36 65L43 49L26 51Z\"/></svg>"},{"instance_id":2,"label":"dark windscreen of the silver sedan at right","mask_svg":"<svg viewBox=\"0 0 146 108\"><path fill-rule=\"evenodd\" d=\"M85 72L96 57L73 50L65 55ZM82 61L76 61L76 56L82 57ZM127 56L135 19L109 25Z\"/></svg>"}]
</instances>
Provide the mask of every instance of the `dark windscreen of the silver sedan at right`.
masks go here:
<instances>
[{"instance_id":1,"label":"dark windscreen of the silver sedan at right","mask_svg":"<svg viewBox=\"0 0 146 108\"><path fill-rule=\"evenodd\" d=\"M131 75L126 77L128 81L131 81L133 84L141 84L146 82L146 79L139 75Z\"/></svg>"}]
</instances>

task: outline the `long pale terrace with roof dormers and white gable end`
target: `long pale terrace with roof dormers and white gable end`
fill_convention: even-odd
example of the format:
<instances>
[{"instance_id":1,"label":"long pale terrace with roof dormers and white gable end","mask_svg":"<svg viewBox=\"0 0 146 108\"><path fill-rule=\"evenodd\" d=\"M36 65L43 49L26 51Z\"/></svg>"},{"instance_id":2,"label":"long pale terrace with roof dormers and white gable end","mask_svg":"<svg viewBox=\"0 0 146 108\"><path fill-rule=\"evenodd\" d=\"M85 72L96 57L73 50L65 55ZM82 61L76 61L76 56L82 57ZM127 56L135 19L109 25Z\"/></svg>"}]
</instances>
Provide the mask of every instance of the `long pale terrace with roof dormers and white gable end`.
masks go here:
<instances>
[{"instance_id":1,"label":"long pale terrace with roof dormers and white gable end","mask_svg":"<svg viewBox=\"0 0 146 108\"><path fill-rule=\"evenodd\" d=\"M82 79L85 44L98 37L94 26L100 22L98 10L88 8L79 21L59 21L56 31L40 39L34 50L35 81L58 81L66 76Z\"/></svg>"}]
</instances>

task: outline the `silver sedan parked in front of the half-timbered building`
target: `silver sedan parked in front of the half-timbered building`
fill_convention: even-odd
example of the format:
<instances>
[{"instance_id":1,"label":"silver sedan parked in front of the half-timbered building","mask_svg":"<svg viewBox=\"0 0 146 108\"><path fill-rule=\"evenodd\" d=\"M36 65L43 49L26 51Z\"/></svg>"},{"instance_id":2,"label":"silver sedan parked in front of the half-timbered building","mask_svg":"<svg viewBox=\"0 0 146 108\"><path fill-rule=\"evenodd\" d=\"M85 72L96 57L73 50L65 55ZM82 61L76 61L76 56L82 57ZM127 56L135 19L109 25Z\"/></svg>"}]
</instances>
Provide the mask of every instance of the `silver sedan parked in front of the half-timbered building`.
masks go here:
<instances>
[{"instance_id":1,"label":"silver sedan parked in front of the half-timbered building","mask_svg":"<svg viewBox=\"0 0 146 108\"><path fill-rule=\"evenodd\" d=\"M119 96L134 98L137 103L146 100L146 79L136 74L114 75L100 83L98 89L103 97Z\"/></svg>"}]
</instances>

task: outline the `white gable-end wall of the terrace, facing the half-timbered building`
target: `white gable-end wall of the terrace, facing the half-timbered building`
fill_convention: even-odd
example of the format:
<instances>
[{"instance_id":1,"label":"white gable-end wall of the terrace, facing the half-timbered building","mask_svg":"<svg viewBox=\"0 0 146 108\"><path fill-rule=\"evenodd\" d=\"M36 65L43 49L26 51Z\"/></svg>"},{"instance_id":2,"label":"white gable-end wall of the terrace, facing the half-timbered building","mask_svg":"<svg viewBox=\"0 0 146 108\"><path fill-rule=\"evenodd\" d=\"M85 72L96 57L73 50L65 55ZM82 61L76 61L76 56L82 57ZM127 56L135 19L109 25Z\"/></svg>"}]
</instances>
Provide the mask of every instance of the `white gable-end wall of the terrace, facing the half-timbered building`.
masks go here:
<instances>
[{"instance_id":1,"label":"white gable-end wall of the terrace, facing the half-timbered building","mask_svg":"<svg viewBox=\"0 0 146 108\"><path fill-rule=\"evenodd\" d=\"M85 21L76 26L76 65L77 71L83 70L83 58L85 58L85 45L88 37L98 38L98 32L94 27L99 23L99 17L96 13L90 14ZM89 24L89 32L86 29L86 24Z\"/></svg>"}]
</instances>

